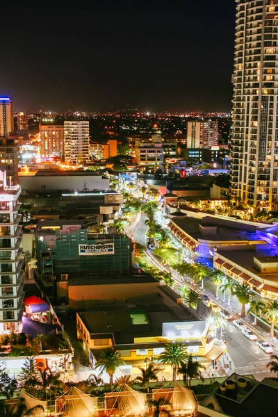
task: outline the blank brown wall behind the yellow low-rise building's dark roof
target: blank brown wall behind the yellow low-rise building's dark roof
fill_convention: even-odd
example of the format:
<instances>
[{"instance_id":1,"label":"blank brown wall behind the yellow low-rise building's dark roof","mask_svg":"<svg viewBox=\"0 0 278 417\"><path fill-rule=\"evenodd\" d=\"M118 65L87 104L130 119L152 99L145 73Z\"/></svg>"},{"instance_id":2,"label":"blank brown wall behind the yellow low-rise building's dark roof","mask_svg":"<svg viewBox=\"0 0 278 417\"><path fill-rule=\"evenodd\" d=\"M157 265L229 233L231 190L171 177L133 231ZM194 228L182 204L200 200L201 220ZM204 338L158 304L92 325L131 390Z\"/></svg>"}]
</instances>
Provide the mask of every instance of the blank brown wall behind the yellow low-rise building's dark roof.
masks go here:
<instances>
[{"instance_id":1,"label":"blank brown wall behind the yellow low-rise building's dark roof","mask_svg":"<svg viewBox=\"0 0 278 417\"><path fill-rule=\"evenodd\" d=\"M104 285L69 285L68 297L69 304L73 308L83 308L90 304L94 304L97 300L104 301L120 301L127 300L131 297L140 297L156 293L159 282L142 282L131 284L104 284ZM61 293L65 294L65 288L61 289ZM65 296L65 295L63 295Z\"/></svg>"}]
</instances>

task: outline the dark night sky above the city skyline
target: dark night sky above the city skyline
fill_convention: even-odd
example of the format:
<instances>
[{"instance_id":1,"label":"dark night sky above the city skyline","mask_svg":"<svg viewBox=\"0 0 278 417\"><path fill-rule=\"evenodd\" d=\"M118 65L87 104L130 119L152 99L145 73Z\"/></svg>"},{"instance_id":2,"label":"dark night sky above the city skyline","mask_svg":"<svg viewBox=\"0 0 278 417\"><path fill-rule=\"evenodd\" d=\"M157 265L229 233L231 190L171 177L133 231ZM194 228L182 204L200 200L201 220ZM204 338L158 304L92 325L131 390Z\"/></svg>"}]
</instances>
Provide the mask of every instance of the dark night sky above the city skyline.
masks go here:
<instances>
[{"instance_id":1,"label":"dark night sky above the city skyline","mask_svg":"<svg viewBox=\"0 0 278 417\"><path fill-rule=\"evenodd\" d=\"M15 111L230 110L234 0L56 3L1 11L0 93Z\"/></svg>"}]
</instances>

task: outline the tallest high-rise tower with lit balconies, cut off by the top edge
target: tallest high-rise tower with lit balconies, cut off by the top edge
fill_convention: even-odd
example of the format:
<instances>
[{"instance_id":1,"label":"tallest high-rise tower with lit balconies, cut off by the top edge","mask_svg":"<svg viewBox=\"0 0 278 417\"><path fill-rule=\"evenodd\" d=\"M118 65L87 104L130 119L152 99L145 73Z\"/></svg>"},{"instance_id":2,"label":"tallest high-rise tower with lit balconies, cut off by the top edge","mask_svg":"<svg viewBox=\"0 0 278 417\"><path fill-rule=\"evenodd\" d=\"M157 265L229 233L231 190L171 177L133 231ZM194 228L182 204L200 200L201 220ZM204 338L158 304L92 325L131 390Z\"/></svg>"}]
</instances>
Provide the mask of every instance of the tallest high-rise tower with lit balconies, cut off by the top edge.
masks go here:
<instances>
[{"instance_id":1,"label":"tallest high-rise tower with lit balconies, cut off by the top edge","mask_svg":"<svg viewBox=\"0 0 278 417\"><path fill-rule=\"evenodd\" d=\"M278 0L236 0L231 195L273 206L278 190Z\"/></svg>"}]
</instances>

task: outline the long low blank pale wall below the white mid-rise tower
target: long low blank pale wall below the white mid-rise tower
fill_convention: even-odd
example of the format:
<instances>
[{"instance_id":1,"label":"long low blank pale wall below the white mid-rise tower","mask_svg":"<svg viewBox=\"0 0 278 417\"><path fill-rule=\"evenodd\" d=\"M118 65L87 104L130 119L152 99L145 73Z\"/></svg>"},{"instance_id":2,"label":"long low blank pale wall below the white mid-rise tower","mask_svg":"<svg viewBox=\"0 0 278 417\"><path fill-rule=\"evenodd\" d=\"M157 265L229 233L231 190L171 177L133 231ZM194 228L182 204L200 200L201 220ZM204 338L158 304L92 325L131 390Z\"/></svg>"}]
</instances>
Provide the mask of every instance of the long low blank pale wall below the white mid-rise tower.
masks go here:
<instances>
[{"instance_id":1,"label":"long low blank pale wall below the white mid-rise tower","mask_svg":"<svg viewBox=\"0 0 278 417\"><path fill-rule=\"evenodd\" d=\"M83 190L86 186L90 190L109 189L109 179L100 175L67 175L49 177L19 177L22 190Z\"/></svg>"}]
</instances>

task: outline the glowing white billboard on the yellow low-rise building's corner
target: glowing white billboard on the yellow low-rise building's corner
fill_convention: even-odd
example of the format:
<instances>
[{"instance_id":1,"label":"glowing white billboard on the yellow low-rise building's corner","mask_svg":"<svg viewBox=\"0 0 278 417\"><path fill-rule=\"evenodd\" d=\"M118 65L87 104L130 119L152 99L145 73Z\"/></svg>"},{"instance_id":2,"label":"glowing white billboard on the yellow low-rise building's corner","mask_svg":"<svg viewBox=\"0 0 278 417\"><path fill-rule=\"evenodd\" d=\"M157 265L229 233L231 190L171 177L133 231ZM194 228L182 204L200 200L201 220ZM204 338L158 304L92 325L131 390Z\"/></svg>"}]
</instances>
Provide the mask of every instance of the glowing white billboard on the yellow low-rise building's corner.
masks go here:
<instances>
[{"instance_id":1,"label":"glowing white billboard on the yellow low-rise building's corner","mask_svg":"<svg viewBox=\"0 0 278 417\"><path fill-rule=\"evenodd\" d=\"M189 340L190 338L202 338L206 336L207 331L208 324L205 321L174 322L163 323L162 335L171 340L175 338Z\"/></svg>"}]
</instances>

